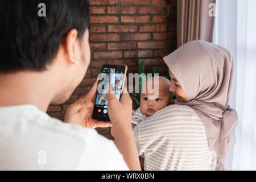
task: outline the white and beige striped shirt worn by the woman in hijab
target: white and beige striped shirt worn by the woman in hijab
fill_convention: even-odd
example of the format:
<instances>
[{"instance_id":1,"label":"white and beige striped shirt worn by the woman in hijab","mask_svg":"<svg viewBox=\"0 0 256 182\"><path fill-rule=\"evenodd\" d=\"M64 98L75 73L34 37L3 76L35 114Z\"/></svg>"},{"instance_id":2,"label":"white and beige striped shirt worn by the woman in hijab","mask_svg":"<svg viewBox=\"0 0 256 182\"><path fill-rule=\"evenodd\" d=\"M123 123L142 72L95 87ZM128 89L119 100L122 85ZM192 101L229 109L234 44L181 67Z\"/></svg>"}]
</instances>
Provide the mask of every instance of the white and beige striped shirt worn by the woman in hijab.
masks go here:
<instances>
[{"instance_id":1,"label":"white and beige striped shirt worn by the woman in hijab","mask_svg":"<svg viewBox=\"0 0 256 182\"><path fill-rule=\"evenodd\" d=\"M204 124L189 106L170 105L156 111L137 123L134 138L145 170L214 168L215 155L209 149Z\"/></svg>"}]
</instances>

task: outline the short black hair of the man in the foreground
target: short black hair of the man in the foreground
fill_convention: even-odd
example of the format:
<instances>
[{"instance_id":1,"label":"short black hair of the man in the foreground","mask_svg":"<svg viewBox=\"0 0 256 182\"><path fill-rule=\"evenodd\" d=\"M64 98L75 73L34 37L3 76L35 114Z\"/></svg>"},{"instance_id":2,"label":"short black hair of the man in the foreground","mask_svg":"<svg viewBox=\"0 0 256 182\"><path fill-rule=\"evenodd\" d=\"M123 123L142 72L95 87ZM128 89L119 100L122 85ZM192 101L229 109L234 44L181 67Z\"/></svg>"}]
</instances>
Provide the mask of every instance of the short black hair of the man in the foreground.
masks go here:
<instances>
[{"instance_id":1,"label":"short black hair of the man in the foreground","mask_svg":"<svg viewBox=\"0 0 256 182\"><path fill-rule=\"evenodd\" d=\"M86 0L0 0L0 73L46 70L61 38L76 29L81 39L88 26Z\"/></svg>"}]
</instances>

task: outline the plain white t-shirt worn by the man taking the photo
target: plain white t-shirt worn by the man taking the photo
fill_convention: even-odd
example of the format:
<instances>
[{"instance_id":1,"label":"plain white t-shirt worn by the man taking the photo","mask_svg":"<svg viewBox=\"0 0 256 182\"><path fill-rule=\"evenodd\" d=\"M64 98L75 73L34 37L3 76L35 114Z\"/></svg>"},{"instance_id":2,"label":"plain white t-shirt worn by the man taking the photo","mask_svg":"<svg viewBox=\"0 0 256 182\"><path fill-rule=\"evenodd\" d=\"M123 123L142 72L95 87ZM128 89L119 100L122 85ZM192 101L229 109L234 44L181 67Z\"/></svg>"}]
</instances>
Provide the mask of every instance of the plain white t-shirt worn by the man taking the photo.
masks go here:
<instances>
[{"instance_id":1,"label":"plain white t-shirt worn by the man taking the photo","mask_svg":"<svg viewBox=\"0 0 256 182\"><path fill-rule=\"evenodd\" d=\"M112 140L34 105L0 107L0 170L129 170Z\"/></svg>"}]
</instances>

